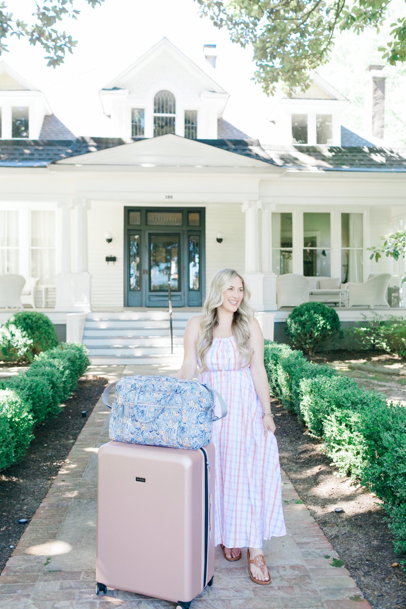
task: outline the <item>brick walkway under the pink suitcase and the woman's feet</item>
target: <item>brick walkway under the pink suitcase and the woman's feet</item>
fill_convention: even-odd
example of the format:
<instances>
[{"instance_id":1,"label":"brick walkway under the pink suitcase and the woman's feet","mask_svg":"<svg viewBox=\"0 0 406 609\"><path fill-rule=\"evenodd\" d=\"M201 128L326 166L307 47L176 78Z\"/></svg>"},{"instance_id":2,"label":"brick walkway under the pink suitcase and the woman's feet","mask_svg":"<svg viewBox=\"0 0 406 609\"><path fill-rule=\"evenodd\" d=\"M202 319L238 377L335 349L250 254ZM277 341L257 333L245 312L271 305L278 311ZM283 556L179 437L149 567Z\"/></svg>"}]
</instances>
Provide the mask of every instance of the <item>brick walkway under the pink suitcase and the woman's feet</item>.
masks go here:
<instances>
[{"instance_id":1,"label":"brick walkway under the pink suitcase and the woman's feet","mask_svg":"<svg viewBox=\"0 0 406 609\"><path fill-rule=\"evenodd\" d=\"M89 370L94 374L96 367ZM170 373L164 367L114 366L100 374ZM108 410L101 400L72 447L0 576L0 608L174 608L164 600L108 590L94 592L96 561L97 447L108 442ZM343 567L323 531L282 471L285 537L264 542L272 583L250 581L245 554L232 563L216 547L214 585L192 609L366 609L371 607ZM164 548L166 552L167 549ZM165 560L165 558L163 558ZM157 565L159 571L159 562Z\"/></svg>"}]
</instances>

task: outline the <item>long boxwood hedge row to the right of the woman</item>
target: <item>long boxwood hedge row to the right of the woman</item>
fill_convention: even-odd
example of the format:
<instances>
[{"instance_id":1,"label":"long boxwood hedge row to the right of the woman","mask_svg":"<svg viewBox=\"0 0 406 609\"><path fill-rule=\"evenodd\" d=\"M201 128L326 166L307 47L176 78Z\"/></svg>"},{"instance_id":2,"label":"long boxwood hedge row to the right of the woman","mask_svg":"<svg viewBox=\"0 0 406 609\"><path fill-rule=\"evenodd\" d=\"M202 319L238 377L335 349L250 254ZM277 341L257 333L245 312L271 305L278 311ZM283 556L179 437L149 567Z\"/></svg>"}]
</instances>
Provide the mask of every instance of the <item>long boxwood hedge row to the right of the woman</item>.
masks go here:
<instances>
[{"instance_id":1,"label":"long boxwood hedge row to the right of the woman","mask_svg":"<svg viewBox=\"0 0 406 609\"><path fill-rule=\"evenodd\" d=\"M394 549L406 552L406 407L287 345L265 340L264 363L271 395L323 438L341 474L382 499Z\"/></svg>"}]
</instances>

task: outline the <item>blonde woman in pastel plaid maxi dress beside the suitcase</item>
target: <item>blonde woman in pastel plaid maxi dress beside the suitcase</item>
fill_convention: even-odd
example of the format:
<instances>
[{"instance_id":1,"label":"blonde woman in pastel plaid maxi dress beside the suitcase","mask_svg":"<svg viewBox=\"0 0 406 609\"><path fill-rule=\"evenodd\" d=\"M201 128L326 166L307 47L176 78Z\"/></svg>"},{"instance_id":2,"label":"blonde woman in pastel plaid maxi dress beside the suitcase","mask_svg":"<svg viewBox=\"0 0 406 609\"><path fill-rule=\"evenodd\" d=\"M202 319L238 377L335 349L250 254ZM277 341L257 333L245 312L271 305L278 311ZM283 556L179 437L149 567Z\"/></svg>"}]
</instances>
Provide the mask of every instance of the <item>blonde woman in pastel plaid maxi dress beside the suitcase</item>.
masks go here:
<instances>
[{"instance_id":1,"label":"blonde woman in pastel plaid maxi dress beside the suitcase","mask_svg":"<svg viewBox=\"0 0 406 609\"><path fill-rule=\"evenodd\" d=\"M203 315L186 324L183 364L175 376L192 379L198 366L198 380L217 389L228 406L227 416L212 426L215 544L227 560L239 560L240 547L247 547L251 580L267 585L262 540L286 530L264 337L250 295L236 270L215 273Z\"/></svg>"}]
</instances>

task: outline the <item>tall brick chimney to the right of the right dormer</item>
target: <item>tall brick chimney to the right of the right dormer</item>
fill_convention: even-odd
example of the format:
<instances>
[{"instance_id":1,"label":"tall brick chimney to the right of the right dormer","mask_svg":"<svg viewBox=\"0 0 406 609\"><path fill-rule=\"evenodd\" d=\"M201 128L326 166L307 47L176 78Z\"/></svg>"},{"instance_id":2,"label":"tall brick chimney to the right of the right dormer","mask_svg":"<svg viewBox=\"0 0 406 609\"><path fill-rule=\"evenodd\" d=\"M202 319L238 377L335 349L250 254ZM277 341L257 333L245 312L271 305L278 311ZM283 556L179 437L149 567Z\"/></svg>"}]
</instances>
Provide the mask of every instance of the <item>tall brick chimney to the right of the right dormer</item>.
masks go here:
<instances>
[{"instance_id":1,"label":"tall brick chimney to the right of the right dormer","mask_svg":"<svg viewBox=\"0 0 406 609\"><path fill-rule=\"evenodd\" d=\"M364 94L364 128L366 136L383 139L385 127L385 66L371 65L366 68L368 79Z\"/></svg>"}]
</instances>

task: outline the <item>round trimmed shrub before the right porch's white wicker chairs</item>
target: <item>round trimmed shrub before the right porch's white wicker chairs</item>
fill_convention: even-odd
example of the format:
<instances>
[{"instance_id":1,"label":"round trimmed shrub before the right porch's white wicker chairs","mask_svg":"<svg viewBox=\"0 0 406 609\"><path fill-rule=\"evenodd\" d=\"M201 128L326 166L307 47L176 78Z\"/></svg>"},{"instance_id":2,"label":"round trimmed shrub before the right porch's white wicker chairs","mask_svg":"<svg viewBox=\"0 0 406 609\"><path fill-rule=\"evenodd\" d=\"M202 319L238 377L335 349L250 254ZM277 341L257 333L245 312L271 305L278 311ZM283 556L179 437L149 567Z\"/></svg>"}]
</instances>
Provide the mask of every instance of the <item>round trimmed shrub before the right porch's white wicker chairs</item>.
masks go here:
<instances>
[{"instance_id":1,"label":"round trimmed shrub before the right porch's white wicker chairs","mask_svg":"<svg viewBox=\"0 0 406 609\"><path fill-rule=\"evenodd\" d=\"M315 353L328 339L342 337L337 312L323 303L295 306L286 320L285 332L304 353Z\"/></svg>"}]
</instances>

